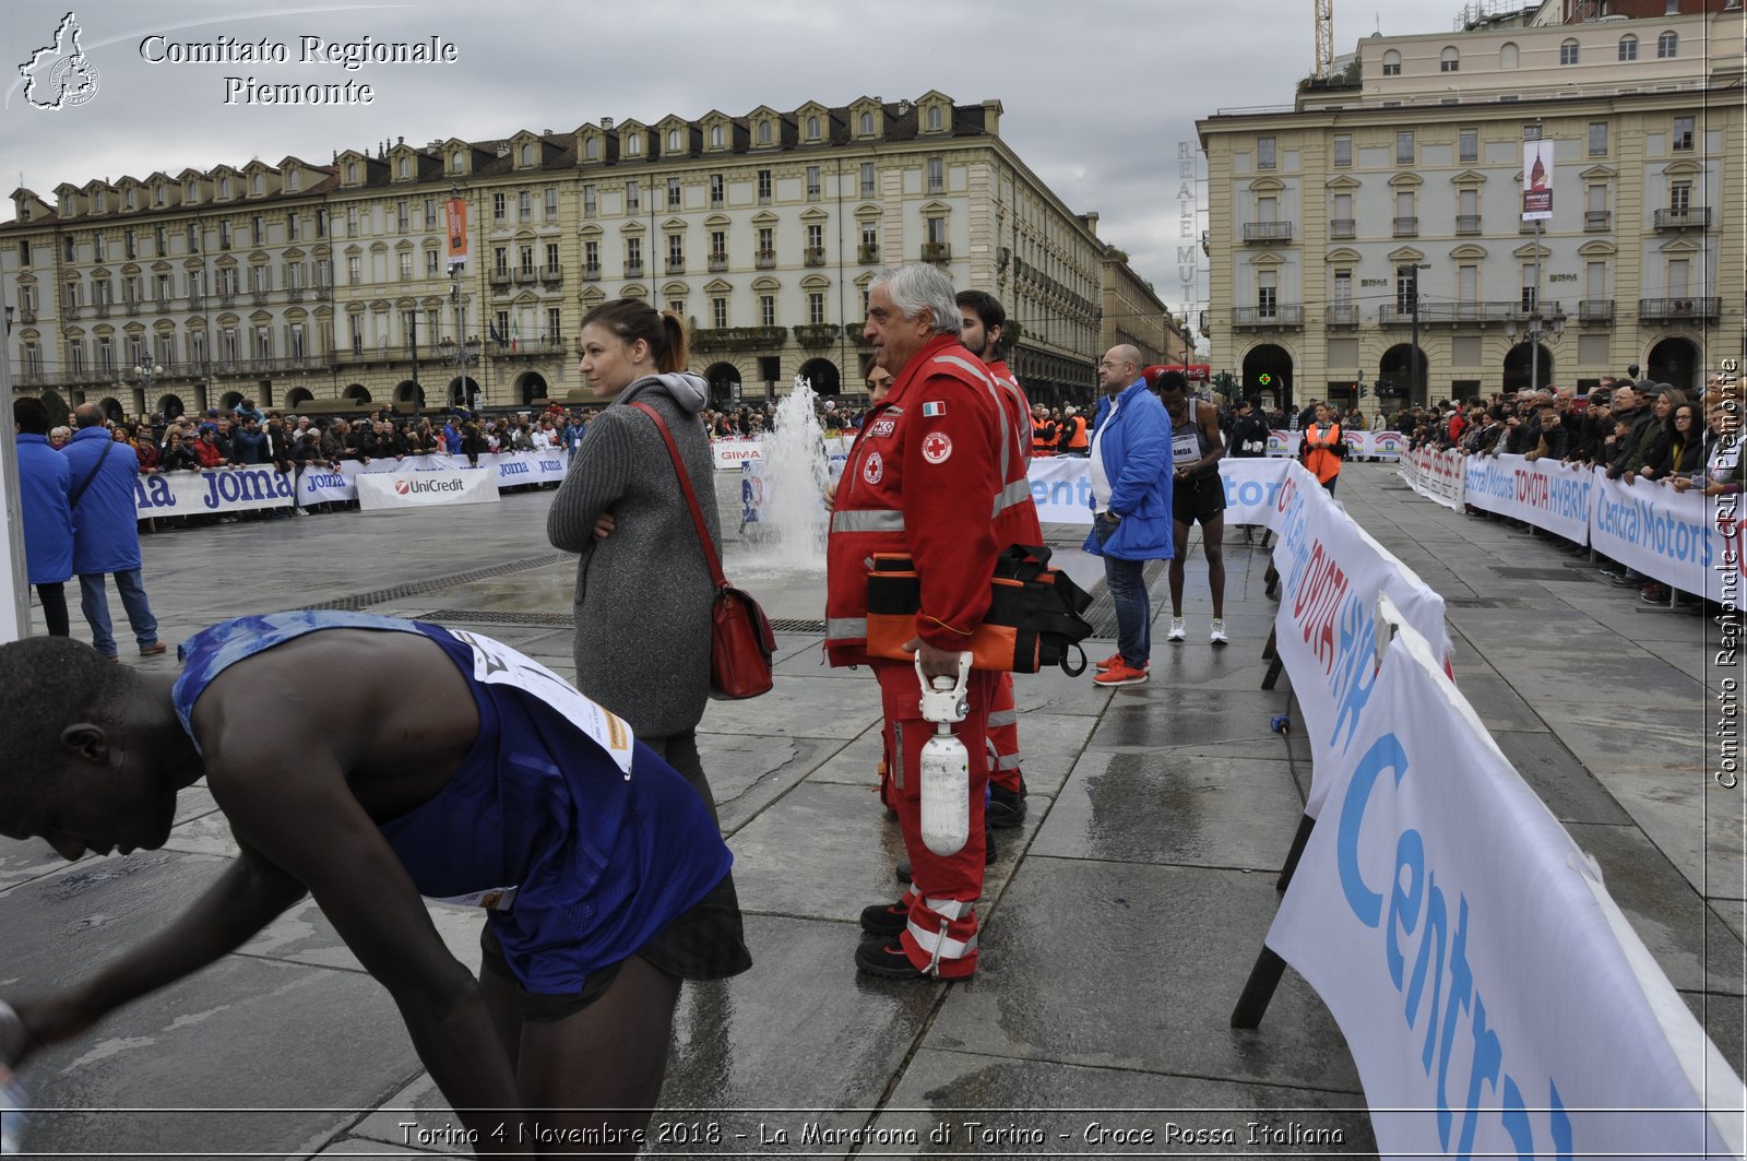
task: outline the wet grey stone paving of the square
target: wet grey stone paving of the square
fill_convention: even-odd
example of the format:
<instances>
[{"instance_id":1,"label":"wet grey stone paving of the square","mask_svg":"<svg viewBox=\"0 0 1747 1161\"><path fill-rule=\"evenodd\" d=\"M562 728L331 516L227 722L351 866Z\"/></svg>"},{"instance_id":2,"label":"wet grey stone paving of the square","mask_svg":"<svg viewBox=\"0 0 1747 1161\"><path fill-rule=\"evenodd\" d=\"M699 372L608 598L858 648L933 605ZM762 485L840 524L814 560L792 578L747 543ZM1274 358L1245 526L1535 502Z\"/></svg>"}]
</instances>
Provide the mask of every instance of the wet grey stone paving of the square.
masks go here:
<instances>
[{"instance_id":1,"label":"wet grey stone paving of the square","mask_svg":"<svg viewBox=\"0 0 1747 1161\"><path fill-rule=\"evenodd\" d=\"M1340 498L1450 600L1460 687L1742 1070L1747 860L1740 799L1707 792L1700 766L1705 622L1640 614L1635 591L1420 500L1392 469L1349 465ZM728 575L784 628L776 691L713 703L699 740L756 963L687 986L650 1152L1366 1156L1352 1060L1302 979L1286 974L1260 1030L1228 1026L1310 775L1302 736L1268 733L1289 682L1261 691L1274 601L1260 547L1226 533L1228 649L1207 643L1197 546L1183 645L1164 642L1165 574L1151 574L1150 684L1017 678L1031 810L998 832L982 969L896 983L851 962L856 914L896 897L901 857L874 794L877 691L821 664L823 570L762 565L734 533L737 477L718 476L718 500ZM570 673L573 567L545 542L549 504L531 491L161 532L145 539L147 589L169 642L245 610L341 605L470 628ZM1101 580L1081 530L1046 533L1059 563ZM82 977L232 852L199 787L161 852L63 864L0 839L0 993ZM475 963L477 913L432 911ZM44 1053L26 1079L45 1109L30 1147L72 1156L459 1151L393 1004L314 906Z\"/></svg>"}]
</instances>

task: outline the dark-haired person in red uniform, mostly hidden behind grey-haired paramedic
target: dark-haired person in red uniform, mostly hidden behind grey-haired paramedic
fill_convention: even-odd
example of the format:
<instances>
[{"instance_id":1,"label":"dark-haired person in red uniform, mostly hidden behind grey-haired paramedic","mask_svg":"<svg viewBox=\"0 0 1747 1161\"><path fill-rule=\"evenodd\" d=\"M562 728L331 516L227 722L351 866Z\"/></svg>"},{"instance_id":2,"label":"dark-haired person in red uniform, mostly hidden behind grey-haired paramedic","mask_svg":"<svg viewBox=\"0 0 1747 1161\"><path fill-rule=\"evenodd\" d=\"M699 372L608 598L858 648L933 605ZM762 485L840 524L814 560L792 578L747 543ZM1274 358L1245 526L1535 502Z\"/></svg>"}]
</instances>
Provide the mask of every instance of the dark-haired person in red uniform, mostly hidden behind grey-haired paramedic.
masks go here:
<instances>
[{"instance_id":1,"label":"dark-haired person in red uniform, mostly hidden behind grey-haired paramedic","mask_svg":"<svg viewBox=\"0 0 1747 1161\"><path fill-rule=\"evenodd\" d=\"M996 386L1001 388L1001 409L1013 437L1012 449L1003 439L1001 477L1006 507L996 516L996 546L1043 546L1043 525L1038 523L1038 505L1031 498L1031 402L1006 362L999 358L1001 329L1006 311L987 290L959 290L959 341L964 350L984 360ZM989 706L989 748L994 769L989 775L989 825L1017 827L1025 820L1025 776L1020 773L1019 710L1013 706L1013 675L1001 673Z\"/></svg>"}]
</instances>

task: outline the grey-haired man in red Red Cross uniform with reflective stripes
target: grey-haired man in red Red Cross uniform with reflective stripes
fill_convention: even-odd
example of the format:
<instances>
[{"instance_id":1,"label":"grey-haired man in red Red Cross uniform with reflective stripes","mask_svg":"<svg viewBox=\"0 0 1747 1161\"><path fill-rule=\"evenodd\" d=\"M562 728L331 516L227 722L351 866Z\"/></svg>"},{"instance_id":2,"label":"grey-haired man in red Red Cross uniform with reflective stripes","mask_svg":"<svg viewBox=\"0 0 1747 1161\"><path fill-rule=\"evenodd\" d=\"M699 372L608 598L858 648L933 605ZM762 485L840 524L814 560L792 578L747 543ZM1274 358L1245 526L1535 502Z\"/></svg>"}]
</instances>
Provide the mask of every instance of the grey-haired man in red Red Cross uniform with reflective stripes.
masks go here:
<instances>
[{"instance_id":1,"label":"grey-haired man in red Red Cross uniform with reflective stripes","mask_svg":"<svg viewBox=\"0 0 1747 1161\"><path fill-rule=\"evenodd\" d=\"M999 675L971 670L970 713L954 727L970 757L970 839L935 855L921 834L921 755L935 727L921 715L921 684L907 661L868 657L867 560L907 553L921 580L915 649L928 677L957 678L959 654L989 610L996 512L1013 435L998 388L959 343L952 283L928 264L874 280L863 337L896 376L868 411L837 488L828 546L825 645L832 664L868 664L880 685L891 789L912 883L896 904L861 913L874 939L856 965L875 976L963 979L977 970L975 902L984 879L987 717ZM1012 470L1012 458L1008 469ZM1029 497L1029 491L1027 491Z\"/></svg>"}]
</instances>

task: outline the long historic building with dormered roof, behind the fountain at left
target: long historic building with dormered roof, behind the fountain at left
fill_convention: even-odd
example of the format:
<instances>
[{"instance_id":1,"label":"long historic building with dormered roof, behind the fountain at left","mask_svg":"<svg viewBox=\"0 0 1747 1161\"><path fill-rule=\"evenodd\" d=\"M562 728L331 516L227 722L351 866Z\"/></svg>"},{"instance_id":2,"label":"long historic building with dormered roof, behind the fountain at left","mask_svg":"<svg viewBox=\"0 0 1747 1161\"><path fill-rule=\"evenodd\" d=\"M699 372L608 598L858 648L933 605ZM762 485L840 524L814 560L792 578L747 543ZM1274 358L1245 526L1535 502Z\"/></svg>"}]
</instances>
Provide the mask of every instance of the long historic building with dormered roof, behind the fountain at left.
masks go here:
<instances>
[{"instance_id":1,"label":"long historic building with dormered roof, behind the fountain at left","mask_svg":"<svg viewBox=\"0 0 1747 1161\"><path fill-rule=\"evenodd\" d=\"M9 357L21 390L129 414L243 397L587 400L578 322L629 295L688 318L718 402L797 374L835 395L863 390L868 283L926 261L1003 301L1027 390L1083 399L1111 285L1123 311L1165 311L999 119L999 101L926 93L381 142L328 164L61 185L52 201L19 189L0 226ZM468 208L459 269L451 198Z\"/></svg>"}]
</instances>

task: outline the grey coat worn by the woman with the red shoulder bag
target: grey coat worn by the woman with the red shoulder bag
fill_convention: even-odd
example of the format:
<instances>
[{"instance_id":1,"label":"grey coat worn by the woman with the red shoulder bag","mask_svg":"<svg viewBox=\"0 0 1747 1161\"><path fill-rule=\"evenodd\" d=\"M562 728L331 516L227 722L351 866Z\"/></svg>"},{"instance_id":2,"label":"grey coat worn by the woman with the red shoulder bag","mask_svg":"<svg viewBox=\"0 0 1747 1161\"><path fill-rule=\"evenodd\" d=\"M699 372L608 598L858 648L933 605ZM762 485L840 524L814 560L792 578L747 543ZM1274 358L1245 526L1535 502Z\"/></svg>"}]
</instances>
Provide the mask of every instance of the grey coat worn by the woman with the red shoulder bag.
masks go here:
<instances>
[{"instance_id":1,"label":"grey coat worn by the woman with the red shoulder bag","mask_svg":"<svg viewBox=\"0 0 1747 1161\"><path fill-rule=\"evenodd\" d=\"M547 537L577 561L577 687L643 736L694 729L709 698L709 568L653 420L685 460L709 537L722 551L715 462L697 421L709 399L690 372L638 379L589 423L547 514ZM613 535L594 539L606 512Z\"/></svg>"}]
</instances>

